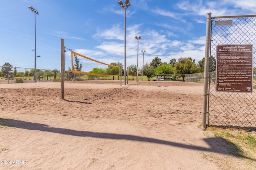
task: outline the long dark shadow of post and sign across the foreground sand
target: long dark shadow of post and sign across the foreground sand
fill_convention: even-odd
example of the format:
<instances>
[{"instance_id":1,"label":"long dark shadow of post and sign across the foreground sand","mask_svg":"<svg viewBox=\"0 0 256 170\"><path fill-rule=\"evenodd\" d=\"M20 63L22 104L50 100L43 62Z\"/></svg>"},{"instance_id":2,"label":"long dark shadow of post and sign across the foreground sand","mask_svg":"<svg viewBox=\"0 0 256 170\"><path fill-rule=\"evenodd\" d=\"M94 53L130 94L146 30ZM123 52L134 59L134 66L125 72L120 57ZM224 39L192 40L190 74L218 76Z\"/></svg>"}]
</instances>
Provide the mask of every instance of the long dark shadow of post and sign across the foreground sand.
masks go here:
<instances>
[{"instance_id":1,"label":"long dark shadow of post and sign across the foreground sand","mask_svg":"<svg viewBox=\"0 0 256 170\"><path fill-rule=\"evenodd\" d=\"M27 121L20 121L15 119L2 119L0 118L0 125L15 127L19 129L28 129L33 131L44 131L44 132L52 132L52 133L60 133L64 135L72 135L79 137L93 137L93 138L101 138L101 139L118 139L118 140L128 140L128 141L140 141L140 142L148 142L148 143L157 143L161 145L169 145L184 149L191 150L200 150L207 152L216 152L223 155L231 155L240 158L246 158L252 161L256 161L256 159L252 159L250 157L245 156L242 153L242 150L238 148L234 143L227 141L222 137L213 137L204 139L206 143L210 146L209 148L200 147L197 145L186 145L182 143L176 143L172 141L165 141L161 139L149 138L149 137L140 137L136 135L124 135L124 134L115 134L115 133L99 133L99 132L91 132L91 131L76 131L72 129L58 128L58 127L50 127L49 125L40 124L40 123L32 123ZM232 147L233 152L227 153L225 149L221 149L219 145L216 143L228 143L230 147Z\"/></svg>"}]
</instances>

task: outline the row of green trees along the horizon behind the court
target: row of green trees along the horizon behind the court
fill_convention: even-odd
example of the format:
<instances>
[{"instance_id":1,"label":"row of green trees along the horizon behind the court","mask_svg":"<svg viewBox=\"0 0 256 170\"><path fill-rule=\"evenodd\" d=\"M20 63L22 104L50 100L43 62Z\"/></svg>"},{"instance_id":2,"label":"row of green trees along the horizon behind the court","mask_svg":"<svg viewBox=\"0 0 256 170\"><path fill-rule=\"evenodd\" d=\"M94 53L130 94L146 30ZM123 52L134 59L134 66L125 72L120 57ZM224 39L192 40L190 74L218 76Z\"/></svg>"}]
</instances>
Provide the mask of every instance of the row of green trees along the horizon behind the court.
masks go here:
<instances>
[{"instance_id":1,"label":"row of green trees along the horizon behind the court","mask_svg":"<svg viewBox=\"0 0 256 170\"><path fill-rule=\"evenodd\" d=\"M169 63L162 62L159 57L155 57L149 64L146 63L143 66L143 74L150 80L150 78L156 76L157 74L181 74L182 79L184 81L185 74L193 74L193 73L200 73L204 72L204 58L198 63L195 62L195 59L192 59L191 57L180 57L178 61L176 59L170 59ZM73 68L78 71L82 71L82 64L79 63L78 57L74 56L74 65ZM122 74L124 74L124 68L122 63L110 63L110 65L119 66L122 69ZM136 72L137 66L135 64L131 64L128 66L128 69ZM67 72L71 72L72 69L69 67ZM142 73L142 69L139 69L139 74ZM209 60L209 71L216 71L216 59L215 57L211 56ZM57 69L54 70L45 70L42 71L40 69L37 69L38 74L40 76L48 77L50 75L54 76L54 79L56 79L57 73L59 72ZM90 71L91 73L96 74L119 74L119 69L116 67L108 66L106 68L93 68L93 70ZM16 67L13 68L12 64L10 63L4 63L2 66L2 69L0 70L0 77L7 77L9 74L9 77L16 77L16 76L34 76L34 69L26 70L25 72L17 72ZM256 75L256 68L254 68L254 75ZM87 75L88 78L93 78L92 75ZM67 78L68 76L65 75ZM75 74L71 72L69 74L69 78L74 78ZM119 77L118 77L119 79Z\"/></svg>"}]
</instances>

